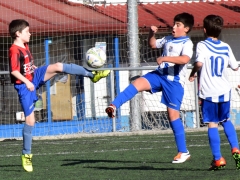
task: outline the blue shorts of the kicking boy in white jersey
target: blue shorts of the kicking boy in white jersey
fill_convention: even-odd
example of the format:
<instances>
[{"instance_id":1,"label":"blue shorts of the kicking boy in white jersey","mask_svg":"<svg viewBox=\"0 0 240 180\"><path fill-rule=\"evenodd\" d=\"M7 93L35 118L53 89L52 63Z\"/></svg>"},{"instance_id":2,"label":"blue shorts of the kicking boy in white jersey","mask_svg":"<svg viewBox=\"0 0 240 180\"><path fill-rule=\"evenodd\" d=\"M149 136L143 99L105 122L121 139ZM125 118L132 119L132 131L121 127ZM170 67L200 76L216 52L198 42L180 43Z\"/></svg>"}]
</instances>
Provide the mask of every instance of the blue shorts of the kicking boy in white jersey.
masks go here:
<instances>
[{"instance_id":1,"label":"blue shorts of the kicking boy in white jersey","mask_svg":"<svg viewBox=\"0 0 240 180\"><path fill-rule=\"evenodd\" d=\"M142 76L147 79L151 86L151 93L162 91L161 103L171 109L180 110L184 89L179 82L169 81L166 76L161 75L157 70Z\"/></svg>"}]
</instances>

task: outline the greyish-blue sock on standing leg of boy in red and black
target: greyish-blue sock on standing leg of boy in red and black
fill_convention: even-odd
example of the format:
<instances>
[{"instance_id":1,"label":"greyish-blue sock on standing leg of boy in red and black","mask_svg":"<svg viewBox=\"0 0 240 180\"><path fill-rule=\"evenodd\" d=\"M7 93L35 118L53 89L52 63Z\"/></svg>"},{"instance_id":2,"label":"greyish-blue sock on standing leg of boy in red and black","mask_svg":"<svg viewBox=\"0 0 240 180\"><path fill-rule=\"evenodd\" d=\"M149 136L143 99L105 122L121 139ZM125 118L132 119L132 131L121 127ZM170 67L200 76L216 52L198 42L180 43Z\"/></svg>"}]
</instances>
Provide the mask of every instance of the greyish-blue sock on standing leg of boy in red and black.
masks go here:
<instances>
[{"instance_id":1,"label":"greyish-blue sock on standing leg of boy in red and black","mask_svg":"<svg viewBox=\"0 0 240 180\"><path fill-rule=\"evenodd\" d=\"M33 126L27 124L23 127L23 150L22 154L31 154Z\"/></svg>"}]
</instances>

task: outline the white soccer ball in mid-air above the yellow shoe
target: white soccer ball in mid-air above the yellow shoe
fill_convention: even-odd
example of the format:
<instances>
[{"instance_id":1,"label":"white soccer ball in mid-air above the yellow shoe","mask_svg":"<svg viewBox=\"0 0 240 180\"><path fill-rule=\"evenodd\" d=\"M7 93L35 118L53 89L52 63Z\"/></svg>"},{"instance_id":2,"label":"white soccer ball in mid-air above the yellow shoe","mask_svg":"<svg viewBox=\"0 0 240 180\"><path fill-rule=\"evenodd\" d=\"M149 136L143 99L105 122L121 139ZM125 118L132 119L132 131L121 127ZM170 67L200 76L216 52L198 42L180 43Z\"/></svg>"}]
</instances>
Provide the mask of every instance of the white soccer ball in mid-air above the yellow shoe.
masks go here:
<instances>
[{"instance_id":1,"label":"white soccer ball in mid-air above the yellow shoe","mask_svg":"<svg viewBox=\"0 0 240 180\"><path fill-rule=\"evenodd\" d=\"M106 62L106 53L101 48L93 47L86 53L86 62L91 68L100 68Z\"/></svg>"}]
</instances>

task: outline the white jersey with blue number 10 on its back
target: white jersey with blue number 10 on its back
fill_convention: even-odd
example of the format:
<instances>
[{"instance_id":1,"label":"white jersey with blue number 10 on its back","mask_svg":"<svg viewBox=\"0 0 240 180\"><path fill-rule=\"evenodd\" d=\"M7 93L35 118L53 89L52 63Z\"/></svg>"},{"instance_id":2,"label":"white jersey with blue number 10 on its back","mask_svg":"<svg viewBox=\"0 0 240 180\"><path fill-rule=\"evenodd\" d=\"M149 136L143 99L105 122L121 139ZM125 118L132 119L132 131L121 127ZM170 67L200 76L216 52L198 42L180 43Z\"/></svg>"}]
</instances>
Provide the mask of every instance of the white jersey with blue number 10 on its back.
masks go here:
<instances>
[{"instance_id":1,"label":"white jersey with blue number 10 on its back","mask_svg":"<svg viewBox=\"0 0 240 180\"><path fill-rule=\"evenodd\" d=\"M197 44L196 62L202 62L199 97L211 102L227 102L231 98L231 85L227 67L238 67L231 47L220 40L207 38Z\"/></svg>"}]
</instances>

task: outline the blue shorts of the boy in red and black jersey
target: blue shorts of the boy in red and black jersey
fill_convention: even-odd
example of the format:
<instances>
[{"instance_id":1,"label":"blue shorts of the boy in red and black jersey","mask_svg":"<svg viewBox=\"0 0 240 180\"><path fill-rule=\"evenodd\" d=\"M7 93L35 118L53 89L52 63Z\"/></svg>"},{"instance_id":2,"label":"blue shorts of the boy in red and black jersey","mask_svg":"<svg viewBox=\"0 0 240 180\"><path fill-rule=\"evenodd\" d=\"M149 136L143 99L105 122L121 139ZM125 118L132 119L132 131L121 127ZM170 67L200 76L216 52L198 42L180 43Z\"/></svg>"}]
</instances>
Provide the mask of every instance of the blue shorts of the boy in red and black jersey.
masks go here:
<instances>
[{"instance_id":1,"label":"blue shorts of the boy in red and black jersey","mask_svg":"<svg viewBox=\"0 0 240 180\"><path fill-rule=\"evenodd\" d=\"M38 100L36 90L46 83L44 82L44 76L46 74L47 67L48 66L42 66L35 69L32 81L35 86L34 91L29 91L26 84L14 84L14 88L17 90L18 98L25 117L29 116L35 108L35 102Z\"/></svg>"}]
</instances>

